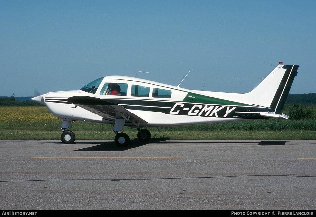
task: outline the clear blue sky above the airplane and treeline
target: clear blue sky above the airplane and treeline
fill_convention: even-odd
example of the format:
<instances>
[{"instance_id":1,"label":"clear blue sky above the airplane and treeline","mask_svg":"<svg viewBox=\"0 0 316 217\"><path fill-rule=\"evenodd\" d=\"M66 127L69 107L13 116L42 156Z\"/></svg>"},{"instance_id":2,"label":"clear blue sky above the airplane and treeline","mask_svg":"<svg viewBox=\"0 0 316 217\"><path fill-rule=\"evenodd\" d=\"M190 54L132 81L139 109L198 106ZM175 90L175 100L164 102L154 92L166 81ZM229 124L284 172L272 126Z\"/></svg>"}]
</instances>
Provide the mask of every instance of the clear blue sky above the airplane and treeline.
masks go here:
<instances>
[{"instance_id":1,"label":"clear blue sky above the airplane and treeline","mask_svg":"<svg viewBox=\"0 0 316 217\"><path fill-rule=\"evenodd\" d=\"M316 92L316 1L0 1L0 96L125 75L251 91L279 61ZM238 79L237 79L238 78Z\"/></svg>"}]
</instances>

